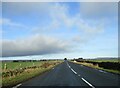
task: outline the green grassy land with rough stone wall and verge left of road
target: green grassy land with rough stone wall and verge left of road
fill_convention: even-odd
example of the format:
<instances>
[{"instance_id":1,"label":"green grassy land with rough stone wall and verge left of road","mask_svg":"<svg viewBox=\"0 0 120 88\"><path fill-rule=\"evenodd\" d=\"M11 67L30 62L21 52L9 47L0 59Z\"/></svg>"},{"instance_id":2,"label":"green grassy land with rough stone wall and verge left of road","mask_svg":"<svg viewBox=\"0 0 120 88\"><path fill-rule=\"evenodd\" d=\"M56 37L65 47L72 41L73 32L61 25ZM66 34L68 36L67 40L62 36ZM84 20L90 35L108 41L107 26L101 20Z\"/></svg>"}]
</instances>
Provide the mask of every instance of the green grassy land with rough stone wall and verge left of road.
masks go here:
<instances>
[{"instance_id":1,"label":"green grassy land with rough stone wall and verge left of road","mask_svg":"<svg viewBox=\"0 0 120 88\"><path fill-rule=\"evenodd\" d=\"M50 70L61 62L62 61L3 62L2 86L12 87Z\"/></svg>"}]
</instances>

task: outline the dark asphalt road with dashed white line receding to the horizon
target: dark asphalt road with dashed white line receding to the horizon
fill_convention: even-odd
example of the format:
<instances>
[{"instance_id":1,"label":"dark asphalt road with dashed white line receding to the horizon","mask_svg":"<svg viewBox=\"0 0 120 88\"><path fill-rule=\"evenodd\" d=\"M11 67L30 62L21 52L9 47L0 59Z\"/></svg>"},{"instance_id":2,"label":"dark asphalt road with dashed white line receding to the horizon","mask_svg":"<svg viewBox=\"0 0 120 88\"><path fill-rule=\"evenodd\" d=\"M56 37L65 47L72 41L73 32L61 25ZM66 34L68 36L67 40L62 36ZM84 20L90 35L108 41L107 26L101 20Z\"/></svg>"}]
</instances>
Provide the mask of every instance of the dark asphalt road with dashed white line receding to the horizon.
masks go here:
<instances>
[{"instance_id":1,"label":"dark asphalt road with dashed white line receding to the horizon","mask_svg":"<svg viewBox=\"0 0 120 88\"><path fill-rule=\"evenodd\" d=\"M18 86L19 88L24 86L86 86L88 88L116 86L118 88L119 78L112 73L64 61L52 70Z\"/></svg>"}]
</instances>

